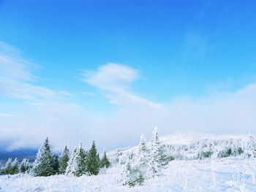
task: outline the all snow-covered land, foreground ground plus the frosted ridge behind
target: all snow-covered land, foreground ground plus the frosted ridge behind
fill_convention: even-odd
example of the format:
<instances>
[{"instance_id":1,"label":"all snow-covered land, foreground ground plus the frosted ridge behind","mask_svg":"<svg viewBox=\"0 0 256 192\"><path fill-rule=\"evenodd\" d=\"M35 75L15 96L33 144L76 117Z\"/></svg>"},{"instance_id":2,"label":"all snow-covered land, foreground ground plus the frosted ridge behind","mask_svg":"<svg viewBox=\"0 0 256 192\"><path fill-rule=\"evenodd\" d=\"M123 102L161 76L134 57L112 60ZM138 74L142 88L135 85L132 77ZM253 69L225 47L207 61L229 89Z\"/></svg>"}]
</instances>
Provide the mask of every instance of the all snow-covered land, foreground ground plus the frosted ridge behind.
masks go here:
<instances>
[{"instance_id":1,"label":"all snow-covered land, foreground ground plus the frosted ridge behind","mask_svg":"<svg viewBox=\"0 0 256 192\"><path fill-rule=\"evenodd\" d=\"M122 159L128 157L132 166L137 164L136 155L138 155L141 147L141 139L138 147L129 147L107 153L111 166L108 169L100 169L98 175L80 177L67 175L33 177L30 174L3 175L0 176L0 191L255 191L256 158L253 156L255 148L252 147L255 140L252 138L255 136L173 134L161 137L159 143L169 149L165 150L165 154L175 155L177 149L181 153L181 148L186 146L189 148L189 150L185 150L187 155L183 153L184 156L179 156L179 158L177 156L175 160L168 161L165 166L162 166L156 177L148 177L142 185L133 187L123 185L124 170L127 163L123 162ZM212 149L215 150L212 150L210 157L201 156L198 158L197 155L195 158L194 153L199 154L205 150L207 145L204 144L206 142L208 144L215 143L215 145L211 145ZM150 147L150 143L147 142L146 146ZM195 147L195 143L201 147ZM216 155L216 153L221 154L221 147L222 149L231 147L231 153L228 157ZM233 153L239 147L242 148L242 153ZM196 151L195 148L197 148ZM134 155L131 155L132 153Z\"/></svg>"}]
</instances>

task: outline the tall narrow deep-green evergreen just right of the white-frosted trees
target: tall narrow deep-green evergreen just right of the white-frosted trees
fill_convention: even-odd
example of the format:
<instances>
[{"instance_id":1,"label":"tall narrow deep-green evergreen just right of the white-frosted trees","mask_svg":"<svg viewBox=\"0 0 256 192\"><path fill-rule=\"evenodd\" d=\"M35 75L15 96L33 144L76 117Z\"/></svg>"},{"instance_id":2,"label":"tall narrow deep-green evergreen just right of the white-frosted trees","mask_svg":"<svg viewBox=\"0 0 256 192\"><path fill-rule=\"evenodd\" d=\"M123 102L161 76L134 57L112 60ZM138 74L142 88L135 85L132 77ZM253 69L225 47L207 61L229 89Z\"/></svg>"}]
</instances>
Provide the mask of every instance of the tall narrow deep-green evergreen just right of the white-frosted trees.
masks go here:
<instances>
[{"instance_id":1,"label":"tall narrow deep-green evergreen just right of the white-frosted trees","mask_svg":"<svg viewBox=\"0 0 256 192\"><path fill-rule=\"evenodd\" d=\"M91 144L91 149L89 150L87 159L87 172L89 174L97 175L99 173L99 162L97 160L97 149L95 142Z\"/></svg>"}]
</instances>

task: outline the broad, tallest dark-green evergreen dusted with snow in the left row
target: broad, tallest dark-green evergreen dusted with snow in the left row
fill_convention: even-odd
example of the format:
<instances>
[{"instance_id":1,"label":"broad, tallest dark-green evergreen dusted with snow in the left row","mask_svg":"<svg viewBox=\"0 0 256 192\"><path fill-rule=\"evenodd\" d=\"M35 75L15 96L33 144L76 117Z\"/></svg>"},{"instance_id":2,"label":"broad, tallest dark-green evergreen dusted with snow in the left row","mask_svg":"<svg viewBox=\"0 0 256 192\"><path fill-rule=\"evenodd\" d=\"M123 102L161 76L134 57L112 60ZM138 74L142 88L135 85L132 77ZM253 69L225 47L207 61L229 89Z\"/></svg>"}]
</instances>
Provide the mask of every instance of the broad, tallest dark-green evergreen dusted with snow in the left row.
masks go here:
<instances>
[{"instance_id":1,"label":"broad, tallest dark-green evergreen dusted with snow in the left row","mask_svg":"<svg viewBox=\"0 0 256 192\"><path fill-rule=\"evenodd\" d=\"M32 174L34 176L50 176L54 174L53 155L50 153L48 138L45 139L45 142L38 150L37 158L32 168Z\"/></svg>"}]
</instances>

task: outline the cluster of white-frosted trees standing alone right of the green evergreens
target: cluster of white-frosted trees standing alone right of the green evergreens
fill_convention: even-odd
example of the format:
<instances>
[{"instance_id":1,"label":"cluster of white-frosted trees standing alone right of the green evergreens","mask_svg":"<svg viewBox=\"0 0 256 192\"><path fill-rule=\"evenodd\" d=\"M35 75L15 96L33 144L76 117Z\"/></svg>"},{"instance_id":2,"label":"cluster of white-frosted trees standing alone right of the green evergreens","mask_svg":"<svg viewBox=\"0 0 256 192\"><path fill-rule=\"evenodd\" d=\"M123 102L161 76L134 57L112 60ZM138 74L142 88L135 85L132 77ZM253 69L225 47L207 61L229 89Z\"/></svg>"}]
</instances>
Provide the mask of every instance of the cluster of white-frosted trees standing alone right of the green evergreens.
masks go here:
<instances>
[{"instance_id":1,"label":"cluster of white-frosted trees standing alone right of the green evergreens","mask_svg":"<svg viewBox=\"0 0 256 192\"><path fill-rule=\"evenodd\" d=\"M154 128L150 145L147 145L145 137L141 135L135 160L127 158L121 183L129 186L141 185L144 180L159 176L162 167L170 160L172 159L167 158L160 145L157 128Z\"/></svg>"}]
</instances>

